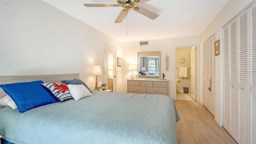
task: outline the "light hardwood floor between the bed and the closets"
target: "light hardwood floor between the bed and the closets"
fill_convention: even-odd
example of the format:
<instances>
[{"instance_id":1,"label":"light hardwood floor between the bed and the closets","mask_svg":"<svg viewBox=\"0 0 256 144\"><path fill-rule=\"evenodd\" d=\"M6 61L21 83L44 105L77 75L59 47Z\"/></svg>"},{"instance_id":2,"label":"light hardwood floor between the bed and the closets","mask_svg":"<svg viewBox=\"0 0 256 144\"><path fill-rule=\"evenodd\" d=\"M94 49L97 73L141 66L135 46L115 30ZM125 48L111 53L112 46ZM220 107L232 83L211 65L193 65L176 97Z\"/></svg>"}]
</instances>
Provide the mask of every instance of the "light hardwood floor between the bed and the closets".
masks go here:
<instances>
[{"instance_id":1,"label":"light hardwood floor between the bed and the closets","mask_svg":"<svg viewBox=\"0 0 256 144\"><path fill-rule=\"evenodd\" d=\"M199 102L174 101L180 120L176 123L178 144L237 144L219 127L214 116Z\"/></svg>"}]
</instances>

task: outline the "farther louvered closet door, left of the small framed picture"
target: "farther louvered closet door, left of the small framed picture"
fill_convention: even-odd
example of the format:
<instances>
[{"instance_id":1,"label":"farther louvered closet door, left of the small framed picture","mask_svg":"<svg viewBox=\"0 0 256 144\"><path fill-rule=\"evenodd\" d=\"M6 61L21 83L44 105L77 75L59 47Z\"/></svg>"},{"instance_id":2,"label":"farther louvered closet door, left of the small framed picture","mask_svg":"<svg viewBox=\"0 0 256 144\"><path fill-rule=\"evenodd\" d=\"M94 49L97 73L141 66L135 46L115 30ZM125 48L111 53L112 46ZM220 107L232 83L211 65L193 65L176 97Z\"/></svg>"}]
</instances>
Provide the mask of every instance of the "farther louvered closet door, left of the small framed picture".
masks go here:
<instances>
[{"instance_id":1,"label":"farther louvered closet door, left of the small framed picture","mask_svg":"<svg viewBox=\"0 0 256 144\"><path fill-rule=\"evenodd\" d=\"M204 106L215 116L215 34L204 42ZM211 83L210 83L211 82ZM208 88L211 87L211 90Z\"/></svg>"}]
</instances>

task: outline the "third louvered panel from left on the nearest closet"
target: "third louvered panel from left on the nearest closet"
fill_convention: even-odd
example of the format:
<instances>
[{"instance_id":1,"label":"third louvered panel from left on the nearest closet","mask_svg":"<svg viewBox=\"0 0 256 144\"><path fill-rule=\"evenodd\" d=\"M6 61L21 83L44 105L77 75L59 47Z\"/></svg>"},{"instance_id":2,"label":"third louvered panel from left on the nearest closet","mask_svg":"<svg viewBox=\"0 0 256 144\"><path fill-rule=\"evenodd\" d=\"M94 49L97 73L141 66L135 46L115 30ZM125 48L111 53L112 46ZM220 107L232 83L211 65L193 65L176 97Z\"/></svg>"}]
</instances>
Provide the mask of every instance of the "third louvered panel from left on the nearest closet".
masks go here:
<instances>
[{"instance_id":1,"label":"third louvered panel from left on the nearest closet","mask_svg":"<svg viewBox=\"0 0 256 144\"><path fill-rule=\"evenodd\" d=\"M238 113L239 113L239 135L238 140L244 144L249 143L249 94L248 94L248 67L249 67L249 32L248 32L248 11L238 17ZM239 142L238 141L238 142ZM240 143L240 142L239 142Z\"/></svg>"}]
</instances>

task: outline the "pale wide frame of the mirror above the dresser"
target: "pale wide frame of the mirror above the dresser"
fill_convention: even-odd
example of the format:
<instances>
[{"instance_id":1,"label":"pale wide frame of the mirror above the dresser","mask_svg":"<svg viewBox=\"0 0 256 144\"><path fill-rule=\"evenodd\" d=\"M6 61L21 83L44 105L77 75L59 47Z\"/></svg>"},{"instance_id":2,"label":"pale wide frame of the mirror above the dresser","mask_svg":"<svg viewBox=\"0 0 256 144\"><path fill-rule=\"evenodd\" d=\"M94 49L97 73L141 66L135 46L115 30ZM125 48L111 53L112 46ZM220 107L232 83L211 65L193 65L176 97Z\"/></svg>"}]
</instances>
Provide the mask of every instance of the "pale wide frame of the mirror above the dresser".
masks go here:
<instances>
[{"instance_id":1,"label":"pale wide frame of the mirror above the dresser","mask_svg":"<svg viewBox=\"0 0 256 144\"><path fill-rule=\"evenodd\" d=\"M160 77L160 70L161 70L161 51L152 51L152 52L137 52L137 64L138 64L138 70L139 70L139 57L140 56L159 56L159 78L140 78L140 79L161 79ZM137 74L138 76L138 74Z\"/></svg>"}]
</instances>

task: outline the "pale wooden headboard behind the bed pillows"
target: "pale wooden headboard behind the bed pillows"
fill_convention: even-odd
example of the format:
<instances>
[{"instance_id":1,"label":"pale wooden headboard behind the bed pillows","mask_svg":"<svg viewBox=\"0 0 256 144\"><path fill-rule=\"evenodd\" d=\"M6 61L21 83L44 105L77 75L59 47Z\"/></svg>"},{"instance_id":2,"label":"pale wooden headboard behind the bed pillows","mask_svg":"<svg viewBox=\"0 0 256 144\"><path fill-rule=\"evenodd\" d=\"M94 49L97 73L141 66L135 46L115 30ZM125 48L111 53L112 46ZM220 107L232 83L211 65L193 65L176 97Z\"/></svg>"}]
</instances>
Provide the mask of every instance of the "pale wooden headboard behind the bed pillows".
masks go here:
<instances>
[{"instance_id":1,"label":"pale wooden headboard behind the bed pillows","mask_svg":"<svg viewBox=\"0 0 256 144\"><path fill-rule=\"evenodd\" d=\"M79 78L79 74L52 74L52 75L38 75L38 76L0 76L0 84L11 84L16 82L31 82L35 80L42 80L43 82L60 82L61 80L71 80ZM4 90L0 88L0 98L6 96ZM4 106L0 105L0 108Z\"/></svg>"}]
</instances>

